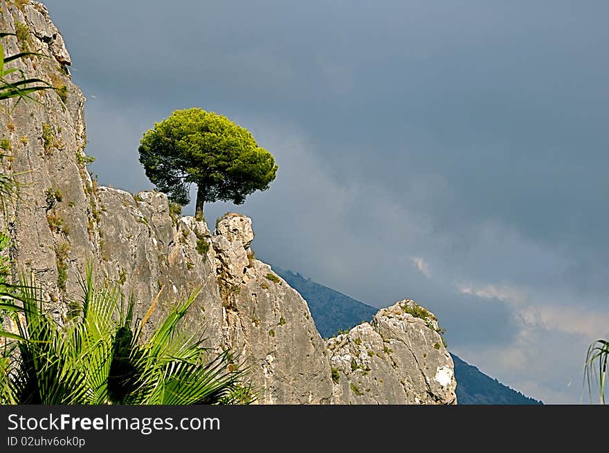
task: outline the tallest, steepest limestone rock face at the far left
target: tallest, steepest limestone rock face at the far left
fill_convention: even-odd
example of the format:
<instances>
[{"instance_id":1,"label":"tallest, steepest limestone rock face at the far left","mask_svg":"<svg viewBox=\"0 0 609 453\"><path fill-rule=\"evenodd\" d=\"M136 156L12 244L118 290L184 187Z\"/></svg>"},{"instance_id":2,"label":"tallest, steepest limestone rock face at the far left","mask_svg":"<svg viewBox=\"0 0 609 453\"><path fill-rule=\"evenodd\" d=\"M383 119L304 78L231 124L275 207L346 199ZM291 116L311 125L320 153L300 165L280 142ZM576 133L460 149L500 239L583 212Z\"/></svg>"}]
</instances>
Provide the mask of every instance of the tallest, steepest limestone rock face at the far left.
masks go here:
<instances>
[{"instance_id":1,"label":"tallest, steepest limestone rock face at the far left","mask_svg":"<svg viewBox=\"0 0 609 453\"><path fill-rule=\"evenodd\" d=\"M61 89L33 93L38 102L3 100L0 115L1 153L6 155L0 165L3 172L18 174L20 183L19 196L8 204L3 219L12 239L13 271L32 270L46 289L49 313L61 321L66 299L78 291L78 270L99 249L95 183L85 166L84 96L71 81L69 54L42 3L18 8L0 0L0 29L19 30L19 37L2 39L6 55L46 55L8 67ZM19 73L9 77L15 80Z\"/></svg>"}]
</instances>

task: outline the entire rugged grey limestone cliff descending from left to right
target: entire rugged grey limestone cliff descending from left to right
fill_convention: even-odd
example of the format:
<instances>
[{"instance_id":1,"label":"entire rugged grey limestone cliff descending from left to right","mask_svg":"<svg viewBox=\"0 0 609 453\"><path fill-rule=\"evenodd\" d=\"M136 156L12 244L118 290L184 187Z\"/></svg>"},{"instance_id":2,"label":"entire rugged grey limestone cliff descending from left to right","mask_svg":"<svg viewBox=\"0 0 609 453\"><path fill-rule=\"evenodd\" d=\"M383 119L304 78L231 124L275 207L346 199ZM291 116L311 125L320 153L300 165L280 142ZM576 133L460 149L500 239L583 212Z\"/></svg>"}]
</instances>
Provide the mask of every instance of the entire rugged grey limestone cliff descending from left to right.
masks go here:
<instances>
[{"instance_id":1,"label":"entire rugged grey limestone cliff descending from left to right","mask_svg":"<svg viewBox=\"0 0 609 453\"><path fill-rule=\"evenodd\" d=\"M13 274L33 270L57 322L73 315L78 276L92 262L99 277L136 299L140 313L161 291L166 302L157 317L201 287L184 328L204 329L208 346L235 351L260 403L453 402L452 360L435 347L437 324L404 312L410 302L326 345L305 300L255 259L250 219L228 214L212 233L206 222L170 211L164 194L98 187L84 154L84 96L48 11L35 1L0 0L0 22L18 35L4 39L7 55L46 55L15 65L57 88L35 95L37 102L4 104L0 118L3 171L21 183L3 219Z\"/></svg>"}]
</instances>

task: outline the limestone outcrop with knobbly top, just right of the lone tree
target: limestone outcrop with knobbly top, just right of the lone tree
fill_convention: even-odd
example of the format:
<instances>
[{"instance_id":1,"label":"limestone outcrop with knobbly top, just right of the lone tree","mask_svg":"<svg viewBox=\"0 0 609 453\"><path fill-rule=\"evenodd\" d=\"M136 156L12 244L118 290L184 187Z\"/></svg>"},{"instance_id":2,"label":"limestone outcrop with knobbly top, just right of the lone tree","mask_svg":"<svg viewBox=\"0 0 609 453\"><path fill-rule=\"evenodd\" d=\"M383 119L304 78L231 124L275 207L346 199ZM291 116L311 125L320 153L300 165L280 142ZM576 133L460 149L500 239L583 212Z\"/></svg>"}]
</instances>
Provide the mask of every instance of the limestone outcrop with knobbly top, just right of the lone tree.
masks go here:
<instances>
[{"instance_id":1,"label":"limestone outcrop with knobbly top, just right of the lone tree","mask_svg":"<svg viewBox=\"0 0 609 453\"><path fill-rule=\"evenodd\" d=\"M325 344L300 294L254 259L251 219L226 214L212 237L224 306L224 342L256 370L260 402L329 403Z\"/></svg>"}]
</instances>

